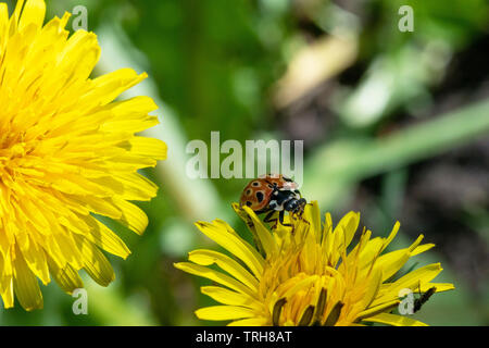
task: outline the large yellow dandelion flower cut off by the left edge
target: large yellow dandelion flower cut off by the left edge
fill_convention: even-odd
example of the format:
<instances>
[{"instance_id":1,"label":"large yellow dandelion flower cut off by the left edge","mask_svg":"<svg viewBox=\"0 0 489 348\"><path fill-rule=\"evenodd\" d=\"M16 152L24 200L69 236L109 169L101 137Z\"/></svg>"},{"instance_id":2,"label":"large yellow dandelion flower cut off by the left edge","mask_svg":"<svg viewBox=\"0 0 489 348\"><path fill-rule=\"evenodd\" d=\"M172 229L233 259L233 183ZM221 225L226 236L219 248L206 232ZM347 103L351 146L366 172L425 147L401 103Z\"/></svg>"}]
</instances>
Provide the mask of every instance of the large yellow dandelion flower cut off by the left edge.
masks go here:
<instances>
[{"instance_id":1,"label":"large yellow dandelion flower cut off by the left edge","mask_svg":"<svg viewBox=\"0 0 489 348\"><path fill-rule=\"evenodd\" d=\"M71 293L84 269L114 279L101 250L129 250L95 214L141 234L146 214L130 203L156 186L137 173L166 156L164 142L135 136L155 124L151 98L113 102L146 74L129 69L89 78L100 54L93 33L65 30L70 14L43 25L42 0L0 3L0 295L42 308L38 278Z\"/></svg>"}]
</instances>

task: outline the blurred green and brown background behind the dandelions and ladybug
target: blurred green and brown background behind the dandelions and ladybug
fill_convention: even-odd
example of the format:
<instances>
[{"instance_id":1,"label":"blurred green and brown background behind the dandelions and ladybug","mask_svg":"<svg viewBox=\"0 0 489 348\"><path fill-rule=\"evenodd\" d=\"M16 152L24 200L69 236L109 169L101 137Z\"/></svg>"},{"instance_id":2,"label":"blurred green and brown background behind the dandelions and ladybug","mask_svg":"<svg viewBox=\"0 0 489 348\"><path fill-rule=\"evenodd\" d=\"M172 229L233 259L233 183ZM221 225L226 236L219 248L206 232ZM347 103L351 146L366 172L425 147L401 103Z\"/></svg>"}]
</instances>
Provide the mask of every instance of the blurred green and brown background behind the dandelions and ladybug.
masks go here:
<instances>
[{"instance_id":1,"label":"blurred green and brown background behind the dandelions and ladybug","mask_svg":"<svg viewBox=\"0 0 489 348\"><path fill-rule=\"evenodd\" d=\"M187 142L209 144L212 130L221 141L304 140L301 191L323 213L360 211L377 236L399 220L392 248L419 233L437 245L414 261L440 261L437 281L456 290L434 296L416 319L489 324L487 1L51 0L48 16L79 4L102 47L96 75L148 72L126 97L156 100L162 124L147 135L167 142L168 159L146 172L161 189L140 204L145 235L113 225L133 251L111 257L116 281L84 278L88 315L74 315L74 299L51 284L43 310L2 309L0 325L213 324L193 315L213 303L199 293L209 282L173 268L193 248L216 248L197 220L247 233L230 202L248 179L186 175ZM404 4L412 33L398 28Z\"/></svg>"}]
</instances>

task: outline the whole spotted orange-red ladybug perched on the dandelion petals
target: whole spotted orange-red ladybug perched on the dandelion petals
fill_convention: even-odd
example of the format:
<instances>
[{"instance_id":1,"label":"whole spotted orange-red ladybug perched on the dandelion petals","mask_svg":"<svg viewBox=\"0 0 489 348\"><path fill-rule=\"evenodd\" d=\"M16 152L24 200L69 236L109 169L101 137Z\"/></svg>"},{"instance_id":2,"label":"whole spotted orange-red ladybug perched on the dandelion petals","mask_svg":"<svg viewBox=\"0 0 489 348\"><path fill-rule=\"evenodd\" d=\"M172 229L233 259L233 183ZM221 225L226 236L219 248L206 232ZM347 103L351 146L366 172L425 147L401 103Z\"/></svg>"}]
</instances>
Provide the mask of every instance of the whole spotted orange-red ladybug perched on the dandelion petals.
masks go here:
<instances>
[{"instance_id":1,"label":"whole spotted orange-red ladybug perched on the dandelion petals","mask_svg":"<svg viewBox=\"0 0 489 348\"><path fill-rule=\"evenodd\" d=\"M299 216L304 212L306 200L298 189L299 185L284 175L267 174L251 181L242 190L239 203L250 207L256 214L267 213L264 222L273 222L275 212L284 224L284 214L288 211Z\"/></svg>"}]
</instances>

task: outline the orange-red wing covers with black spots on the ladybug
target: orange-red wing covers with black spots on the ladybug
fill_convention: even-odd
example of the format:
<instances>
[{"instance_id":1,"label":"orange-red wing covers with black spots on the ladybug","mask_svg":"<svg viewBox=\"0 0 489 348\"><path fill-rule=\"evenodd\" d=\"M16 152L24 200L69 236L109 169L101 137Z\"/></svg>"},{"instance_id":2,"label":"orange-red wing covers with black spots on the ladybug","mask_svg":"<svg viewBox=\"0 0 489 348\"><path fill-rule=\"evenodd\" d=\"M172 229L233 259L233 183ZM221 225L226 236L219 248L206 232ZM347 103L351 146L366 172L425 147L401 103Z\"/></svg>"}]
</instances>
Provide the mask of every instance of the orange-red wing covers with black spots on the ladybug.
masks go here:
<instances>
[{"instance_id":1,"label":"orange-red wing covers with black spots on the ladybug","mask_svg":"<svg viewBox=\"0 0 489 348\"><path fill-rule=\"evenodd\" d=\"M250 207L256 213L269 211L269 201L276 190L297 191L298 185L281 174L267 174L251 181L242 190L239 202Z\"/></svg>"}]
</instances>

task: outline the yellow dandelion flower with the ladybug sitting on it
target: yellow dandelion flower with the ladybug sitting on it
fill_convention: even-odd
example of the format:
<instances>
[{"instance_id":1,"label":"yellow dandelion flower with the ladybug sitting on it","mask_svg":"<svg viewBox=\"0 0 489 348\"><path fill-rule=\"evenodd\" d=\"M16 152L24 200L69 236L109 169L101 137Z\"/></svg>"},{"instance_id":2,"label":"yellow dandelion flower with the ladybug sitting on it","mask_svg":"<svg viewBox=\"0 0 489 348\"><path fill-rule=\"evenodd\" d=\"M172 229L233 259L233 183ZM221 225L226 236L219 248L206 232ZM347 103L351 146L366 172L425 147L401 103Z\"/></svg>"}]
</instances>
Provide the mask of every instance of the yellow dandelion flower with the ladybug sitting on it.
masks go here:
<instances>
[{"instance_id":1,"label":"yellow dandelion flower with the ladybug sitting on it","mask_svg":"<svg viewBox=\"0 0 489 348\"><path fill-rule=\"evenodd\" d=\"M316 202L305 207L292 227L269 231L248 207L234 204L259 241L262 252L242 239L224 221L199 222L199 229L235 258L212 250L193 250L189 261L175 266L218 284L202 293L221 306L196 311L199 319L233 321L230 325L424 325L409 316L390 313L400 303L400 291L453 289L452 284L431 283L439 263L391 278L406 261L431 247L419 236L410 247L383 253L399 229L387 238L372 238L364 228L359 243L350 244L360 214L350 212L334 227L326 214L322 227ZM217 265L217 271L212 265ZM226 274L227 273L227 274Z\"/></svg>"}]
</instances>

